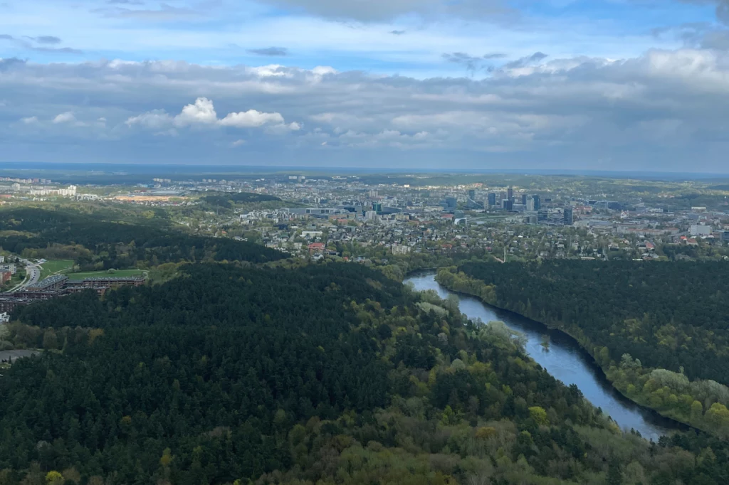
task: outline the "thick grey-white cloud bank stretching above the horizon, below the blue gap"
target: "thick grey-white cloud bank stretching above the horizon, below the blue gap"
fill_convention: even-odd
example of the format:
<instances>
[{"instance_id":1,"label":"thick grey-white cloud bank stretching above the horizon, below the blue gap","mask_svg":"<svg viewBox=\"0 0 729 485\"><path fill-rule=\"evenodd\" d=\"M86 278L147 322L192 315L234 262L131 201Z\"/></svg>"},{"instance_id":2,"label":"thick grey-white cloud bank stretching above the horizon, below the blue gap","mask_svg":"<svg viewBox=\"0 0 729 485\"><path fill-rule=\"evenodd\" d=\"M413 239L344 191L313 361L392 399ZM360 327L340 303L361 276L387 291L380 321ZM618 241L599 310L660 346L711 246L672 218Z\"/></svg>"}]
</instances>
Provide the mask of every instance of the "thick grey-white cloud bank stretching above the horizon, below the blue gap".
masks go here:
<instances>
[{"instance_id":1,"label":"thick grey-white cloud bank stretching above the horizon, below the blue gap","mask_svg":"<svg viewBox=\"0 0 729 485\"><path fill-rule=\"evenodd\" d=\"M729 55L714 50L537 53L486 79L424 80L4 59L0 92L6 160L727 171L729 150Z\"/></svg>"}]
</instances>

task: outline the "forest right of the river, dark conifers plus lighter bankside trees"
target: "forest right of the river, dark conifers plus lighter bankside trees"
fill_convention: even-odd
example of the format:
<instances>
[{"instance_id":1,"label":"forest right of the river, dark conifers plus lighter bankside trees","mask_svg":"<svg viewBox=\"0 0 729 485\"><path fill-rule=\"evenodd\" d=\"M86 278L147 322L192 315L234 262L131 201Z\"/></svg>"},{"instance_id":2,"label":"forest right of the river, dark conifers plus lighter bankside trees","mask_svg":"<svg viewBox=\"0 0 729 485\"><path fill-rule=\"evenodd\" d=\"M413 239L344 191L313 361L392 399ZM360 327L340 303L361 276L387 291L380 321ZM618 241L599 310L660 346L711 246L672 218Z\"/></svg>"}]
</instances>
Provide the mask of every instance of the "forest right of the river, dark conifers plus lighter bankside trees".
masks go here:
<instances>
[{"instance_id":1,"label":"forest right of the river, dark conifers plus lighter bankside trees","mask_svg":"<svg viewBox=\"0 0 729 485\"><path fill-rule=\"evenodd\" d=\"M438 280L574 336L626 395L729 436L729 263L461 264Z\"/></svg>"}]
</instances>

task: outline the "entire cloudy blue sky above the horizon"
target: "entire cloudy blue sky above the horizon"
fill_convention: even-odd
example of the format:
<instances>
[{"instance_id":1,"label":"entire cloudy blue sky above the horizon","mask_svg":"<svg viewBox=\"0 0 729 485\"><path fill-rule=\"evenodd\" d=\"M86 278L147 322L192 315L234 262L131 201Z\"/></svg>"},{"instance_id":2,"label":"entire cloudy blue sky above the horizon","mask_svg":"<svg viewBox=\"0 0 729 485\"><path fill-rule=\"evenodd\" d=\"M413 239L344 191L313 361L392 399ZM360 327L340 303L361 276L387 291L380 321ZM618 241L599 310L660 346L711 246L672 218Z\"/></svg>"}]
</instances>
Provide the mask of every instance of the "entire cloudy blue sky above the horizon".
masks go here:
<instances>
[{"instance_id":1,"label":"entire cloudy blue sky above the horizon","mask_svg":"<svg viewBox=\"0 0 729 485\"><path fill-rule=\"evenodd\" d=\"M1 162L729 173L729 0L0 0Z\"/></svg>"}]
</instances>

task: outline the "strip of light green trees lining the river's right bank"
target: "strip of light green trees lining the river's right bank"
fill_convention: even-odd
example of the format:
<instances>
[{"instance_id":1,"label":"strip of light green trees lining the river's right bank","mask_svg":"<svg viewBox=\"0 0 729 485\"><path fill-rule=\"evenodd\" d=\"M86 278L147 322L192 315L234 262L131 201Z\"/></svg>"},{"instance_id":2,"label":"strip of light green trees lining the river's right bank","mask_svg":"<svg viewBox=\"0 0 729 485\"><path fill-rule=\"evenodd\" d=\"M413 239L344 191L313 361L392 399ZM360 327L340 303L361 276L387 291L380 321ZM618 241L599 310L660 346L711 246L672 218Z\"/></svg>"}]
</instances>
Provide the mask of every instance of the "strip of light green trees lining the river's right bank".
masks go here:
<instances>
[{"instance_id":1,"label":"strip of light green trees lining the river's right bank","mask_svg":"<svg viewBox=\"0 0 729 485\"><path fill-rule=\"evenodd\" d=\"M537 308L521 307L497 297L496 286L467 275L459 267L438 269L436 280L451 291L475 296L484 303L514 312L542 323L547 328L563 331L575 339L580 347L595 360L608 381L622 395L639 406L658 412L684 425L711 433L719 438L729 438L729 411L725 406L729 389L712 380L690 380L682 372L665 368L643 366L638 358L625 353L620 357L610 355L607 347L593 342L585 331L559 321L540 318ZM681 369L682 370L682 369Z\"/></svg>"}]
</instances>

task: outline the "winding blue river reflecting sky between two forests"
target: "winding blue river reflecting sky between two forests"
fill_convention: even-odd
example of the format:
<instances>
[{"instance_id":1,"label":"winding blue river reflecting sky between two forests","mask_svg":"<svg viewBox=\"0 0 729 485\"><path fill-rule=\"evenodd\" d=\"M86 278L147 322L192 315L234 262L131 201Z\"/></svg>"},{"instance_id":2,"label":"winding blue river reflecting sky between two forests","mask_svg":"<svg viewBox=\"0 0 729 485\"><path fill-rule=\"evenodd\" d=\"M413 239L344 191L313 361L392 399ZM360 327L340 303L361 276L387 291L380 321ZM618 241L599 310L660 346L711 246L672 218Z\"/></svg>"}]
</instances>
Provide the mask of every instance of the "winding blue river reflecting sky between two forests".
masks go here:
<instances>
[{"instance_id":1,"label":"winding blue river reflecting sky between two forests","mask_svg":"<svg viewBox=\"0 0 729 485\"><path fill-rule=\"evenodd\" d=\"M453 293L437 283L433 273L417 273L408 277L405 283L413 283L418 291L434 290L441 298ZM569 335L550 330L542 323L513 312L483 304L471 296L458 293L456 296L460 300L461 312L468 318L480 318L484 322L500 320L512 330L524 334L526 353L531 358L566 385L577 385L585 398L609 414L623 429L633 428L653 441L658 441L660 435L686 429L679 422L638 406L615 390L590 355ZM542 348L542 336L545 334L550 336L549 350Z\"/></svg>"}]
</instances>

